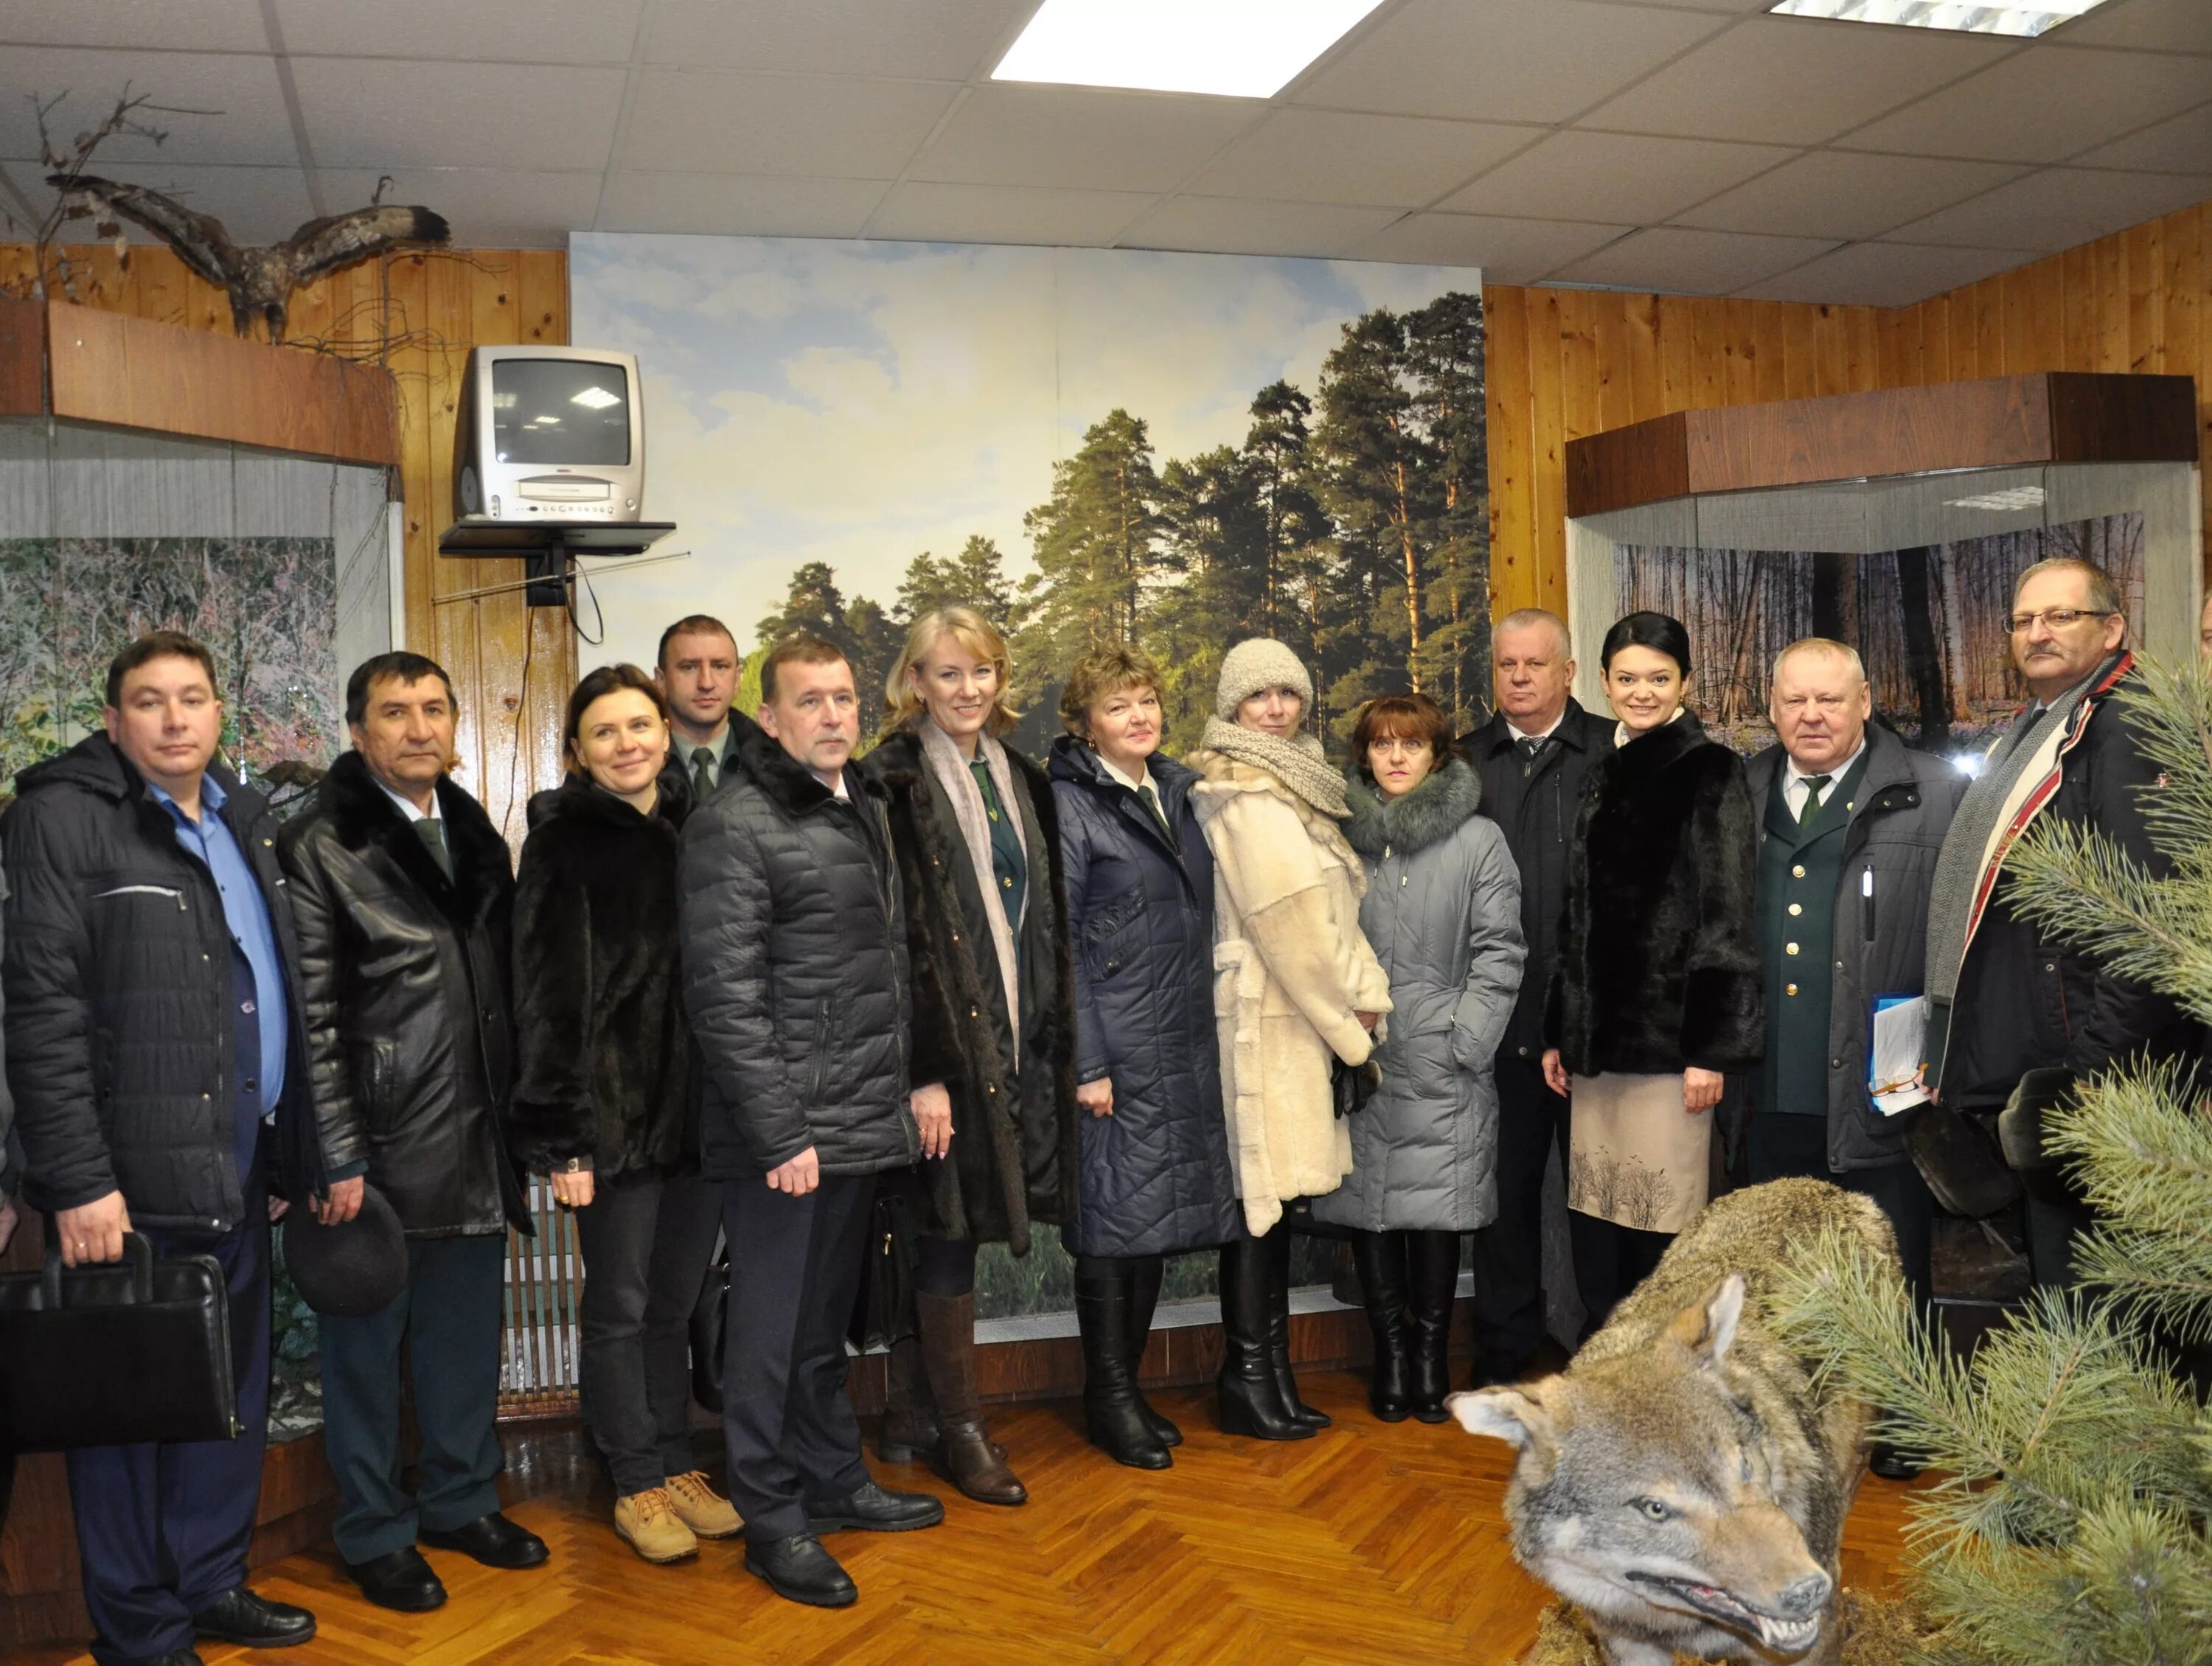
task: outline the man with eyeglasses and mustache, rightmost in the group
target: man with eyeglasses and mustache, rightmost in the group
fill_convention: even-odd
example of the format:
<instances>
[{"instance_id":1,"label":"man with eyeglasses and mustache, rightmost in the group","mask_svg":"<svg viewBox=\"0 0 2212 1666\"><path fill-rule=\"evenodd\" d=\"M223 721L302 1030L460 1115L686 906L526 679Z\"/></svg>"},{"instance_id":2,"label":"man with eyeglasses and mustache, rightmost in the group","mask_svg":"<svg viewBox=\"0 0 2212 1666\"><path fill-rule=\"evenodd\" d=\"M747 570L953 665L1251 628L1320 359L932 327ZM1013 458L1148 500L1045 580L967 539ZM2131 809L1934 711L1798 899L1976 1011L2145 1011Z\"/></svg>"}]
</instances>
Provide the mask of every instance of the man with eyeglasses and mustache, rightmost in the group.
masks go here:
<instances>
[{"instance_id":1,"label":"man with eyeglasses and mustache, rightmost in the group","mask_svg":"<svg viewBox=\"0 0 2212 1666\"><path fill-rule=\"evenodd\" d=\"M2015 1089L2051 1102L2112 1064L2197 1047L2168 998L2046 940L2000 883L2017 839L2053 823L2104 834L2154 876L2170 872L2143 816L2163 785L2159 766L2112 701L2135 668L2119 586L2093 562L2037 562L2013 589L2008 626L2035 704L1960 801L1929 905L1924 1080L1944 1106L1982 1115ZM2026 1181L2028 1268L2037 1285L2070 1285L2088 1208L2055 1179Z\"/></svg>"}]
</instances>

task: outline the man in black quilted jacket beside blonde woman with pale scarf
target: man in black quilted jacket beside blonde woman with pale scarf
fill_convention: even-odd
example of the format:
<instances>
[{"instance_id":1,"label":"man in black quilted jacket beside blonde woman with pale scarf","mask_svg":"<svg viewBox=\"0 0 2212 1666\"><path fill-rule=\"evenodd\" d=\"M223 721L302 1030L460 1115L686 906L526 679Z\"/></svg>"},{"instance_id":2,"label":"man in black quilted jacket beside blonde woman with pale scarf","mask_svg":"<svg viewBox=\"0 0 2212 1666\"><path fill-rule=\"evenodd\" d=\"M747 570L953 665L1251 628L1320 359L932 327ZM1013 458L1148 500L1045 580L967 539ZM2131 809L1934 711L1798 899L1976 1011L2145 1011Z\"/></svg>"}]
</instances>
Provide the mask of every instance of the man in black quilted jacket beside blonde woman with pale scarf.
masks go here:
<instances>
[{"instance_id":1,"label":"man in black quilted jacket beside blonde woman with pale scarf","mask_svg":"<svg viewBox=\"0 0 2212 1666\"><path fill-rule=\"evenodd\" d=\"M858 1591L821 1533L945 1520L938 1500L869 1478L843 1394L876 1175L922 1155L907 929L880 788L847 768L858 730L838 648L770 648L761 728L684 823L677 881L701 1166L730 1239L730 1500L745 1566L823 1608Z\"/></svg>"}]
</instances>

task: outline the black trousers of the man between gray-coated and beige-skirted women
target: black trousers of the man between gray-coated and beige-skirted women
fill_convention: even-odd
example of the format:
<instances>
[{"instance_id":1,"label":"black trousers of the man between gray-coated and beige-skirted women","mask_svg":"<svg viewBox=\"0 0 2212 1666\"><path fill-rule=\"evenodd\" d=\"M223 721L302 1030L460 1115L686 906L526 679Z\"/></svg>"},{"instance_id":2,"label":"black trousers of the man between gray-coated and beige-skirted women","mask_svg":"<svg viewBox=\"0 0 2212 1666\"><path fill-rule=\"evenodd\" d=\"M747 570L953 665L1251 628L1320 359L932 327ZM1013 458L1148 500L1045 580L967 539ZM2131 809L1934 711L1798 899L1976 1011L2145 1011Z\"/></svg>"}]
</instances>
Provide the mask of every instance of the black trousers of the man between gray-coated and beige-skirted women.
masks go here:
<instances>
[{"instance_id":1,"label":"black trousers of the man between gray-coated and beige-skirted women","mask_svg":"<svg viewBox=\"0 0 2212 1666\"><path fill-rule=\"evenodd\" d=\"M1498 1058L1498 1219L1475 1232L1475 1361L1506 1374L1544 1343L1544 1164L1566 1166L1566 1100L1540 1060Z\"/></svg>"}]
</instances>

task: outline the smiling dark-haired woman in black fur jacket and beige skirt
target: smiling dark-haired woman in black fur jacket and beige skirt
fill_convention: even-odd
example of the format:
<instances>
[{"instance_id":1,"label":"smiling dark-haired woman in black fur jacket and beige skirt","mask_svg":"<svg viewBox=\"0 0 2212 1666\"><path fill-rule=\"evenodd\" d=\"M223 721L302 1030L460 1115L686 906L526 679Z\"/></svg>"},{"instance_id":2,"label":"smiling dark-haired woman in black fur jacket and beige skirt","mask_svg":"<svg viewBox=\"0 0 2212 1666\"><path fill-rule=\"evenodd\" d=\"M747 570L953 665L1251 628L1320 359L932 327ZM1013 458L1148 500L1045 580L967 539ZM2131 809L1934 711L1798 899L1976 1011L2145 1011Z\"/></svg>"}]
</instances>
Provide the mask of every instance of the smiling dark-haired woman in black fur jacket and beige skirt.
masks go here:
<instances>
[{"instance_id":1,"label":"smiling dark-haired woman in black fur jacket and beige skirt","mask_svg":"<svg viewBox=\"0 0 2212 1666\"><path fill-rule=\"evenodd\" d=\"M1619 730L1575 814L1544 1011L1584 1336L1705 1206L1721 1077L1765 1053L1759 825L1743 759L1681 704L1690 633L1630 613L1599 664Z\"/></svg>"}]
</instances>

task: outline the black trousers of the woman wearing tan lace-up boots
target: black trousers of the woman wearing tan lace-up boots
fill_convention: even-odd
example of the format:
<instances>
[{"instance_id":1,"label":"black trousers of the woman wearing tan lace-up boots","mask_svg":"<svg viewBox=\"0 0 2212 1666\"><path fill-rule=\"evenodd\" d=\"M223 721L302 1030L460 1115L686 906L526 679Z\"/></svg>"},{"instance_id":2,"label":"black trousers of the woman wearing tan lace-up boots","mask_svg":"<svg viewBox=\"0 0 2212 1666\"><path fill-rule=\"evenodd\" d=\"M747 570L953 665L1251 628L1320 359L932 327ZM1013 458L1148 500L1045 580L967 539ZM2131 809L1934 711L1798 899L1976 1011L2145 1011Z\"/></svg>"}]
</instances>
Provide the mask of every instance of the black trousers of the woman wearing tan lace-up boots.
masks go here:
<instances>
[{"instance_id":1,"label":"black trousers of the woman wearing tan lace-up boots","mask_svg":"<svg viewBox=\"0 0 2212 1666\"><path fill-rule=\"evenodd\" d=\"M575 1215L584 1403L624 1498L699 1467L690 1449L690 1319L717 1230L721 1195L697 1175L617 1175Z\"/></svg>"}]
</instances>

